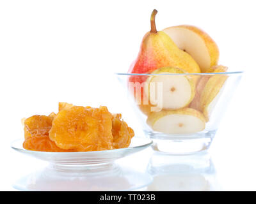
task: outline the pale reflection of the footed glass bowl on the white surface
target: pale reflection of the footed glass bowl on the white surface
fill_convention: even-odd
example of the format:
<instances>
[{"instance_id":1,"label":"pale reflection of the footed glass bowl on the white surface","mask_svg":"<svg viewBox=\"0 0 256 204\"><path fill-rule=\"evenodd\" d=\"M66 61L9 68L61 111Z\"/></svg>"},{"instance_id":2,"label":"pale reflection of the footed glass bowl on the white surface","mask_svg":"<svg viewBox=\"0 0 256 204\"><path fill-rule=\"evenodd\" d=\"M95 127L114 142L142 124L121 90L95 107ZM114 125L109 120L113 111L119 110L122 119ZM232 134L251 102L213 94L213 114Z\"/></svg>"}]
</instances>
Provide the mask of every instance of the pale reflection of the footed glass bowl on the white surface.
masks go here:
<instances>
[{"instance_id":1,"label":"pale reflection of the footed glass bowl on the white surface","mask_svg":"<svg viewBox=\"0 0 256 204\"><path fill-rule=\"evenodd\" d=\"M155 152L148 164L154 180L148 191L218 191L214 165L208 153L170 156Z\"/></svg>"}]
</instances>

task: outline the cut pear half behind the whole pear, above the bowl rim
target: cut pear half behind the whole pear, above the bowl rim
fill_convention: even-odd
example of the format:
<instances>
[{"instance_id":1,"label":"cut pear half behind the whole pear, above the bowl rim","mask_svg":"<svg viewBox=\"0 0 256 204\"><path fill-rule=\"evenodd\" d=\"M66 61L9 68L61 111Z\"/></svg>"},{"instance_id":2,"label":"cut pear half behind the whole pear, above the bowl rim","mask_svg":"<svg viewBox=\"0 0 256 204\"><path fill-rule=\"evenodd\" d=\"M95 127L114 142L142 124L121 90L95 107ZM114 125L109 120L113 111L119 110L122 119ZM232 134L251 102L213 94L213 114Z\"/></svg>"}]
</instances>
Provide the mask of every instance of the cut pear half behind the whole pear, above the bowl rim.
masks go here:
<instances>
[{"instance_id":1,"label":"cut pear half behind the whole pear, above the bowl rim","mask_svg":"<svg viewBox=\"0 0 256 204\"><path fill-rule=\"evenodd\" d=\"M201 72L218 63L219 49L214 40L193 25L178 25L163 29L181 50L188 52L199 65Z\"/></svg>"}]
</instances>

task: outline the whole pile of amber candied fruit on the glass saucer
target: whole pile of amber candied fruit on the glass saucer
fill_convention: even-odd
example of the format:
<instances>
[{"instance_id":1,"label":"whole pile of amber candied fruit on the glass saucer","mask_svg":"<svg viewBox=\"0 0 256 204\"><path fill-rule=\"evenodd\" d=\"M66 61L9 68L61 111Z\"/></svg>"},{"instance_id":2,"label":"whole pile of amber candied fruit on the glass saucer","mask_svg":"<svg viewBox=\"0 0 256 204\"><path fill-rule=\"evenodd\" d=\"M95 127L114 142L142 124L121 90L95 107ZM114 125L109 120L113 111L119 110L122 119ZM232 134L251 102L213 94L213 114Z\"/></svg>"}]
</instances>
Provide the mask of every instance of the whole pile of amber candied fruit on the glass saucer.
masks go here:
<instances>
[{"instance_id":1,"label":"whole pile of amber candied fruit on the glass saucer","mask_svg":"<svg viewBox=\"0 0 256 204\"><path fill-rule=\"evenodd\" d=\"M24 149L47 152L110 150L128 147L132 128L111 114L106 106L74 106L59 103L59 112L22 119Z\"/></svg>"}]
</instances>

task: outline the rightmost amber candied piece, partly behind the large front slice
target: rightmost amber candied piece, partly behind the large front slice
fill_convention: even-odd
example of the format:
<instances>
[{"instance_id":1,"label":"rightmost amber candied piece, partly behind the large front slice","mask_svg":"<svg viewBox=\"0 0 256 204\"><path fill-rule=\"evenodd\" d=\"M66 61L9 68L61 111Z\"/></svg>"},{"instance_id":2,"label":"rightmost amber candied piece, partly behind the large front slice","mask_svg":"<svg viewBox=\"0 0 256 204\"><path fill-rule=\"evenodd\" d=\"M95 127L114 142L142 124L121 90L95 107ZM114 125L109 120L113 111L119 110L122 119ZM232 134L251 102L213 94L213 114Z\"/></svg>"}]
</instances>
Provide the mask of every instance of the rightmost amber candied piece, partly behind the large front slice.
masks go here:
<instances>
[{"instance_id":1,"label":"rightmost amber candied piece, partly behind the large front slice","mask_svg":"<svg viewBox=\"0 0 256 204\"><path fill-rule=\"evenodd\" d=\"M114 149L129 147L134 136L133 129L128 127L127 123L121 120L121 117L121 114L113 114L112 134Z\"/></svg>"}]
</instances>

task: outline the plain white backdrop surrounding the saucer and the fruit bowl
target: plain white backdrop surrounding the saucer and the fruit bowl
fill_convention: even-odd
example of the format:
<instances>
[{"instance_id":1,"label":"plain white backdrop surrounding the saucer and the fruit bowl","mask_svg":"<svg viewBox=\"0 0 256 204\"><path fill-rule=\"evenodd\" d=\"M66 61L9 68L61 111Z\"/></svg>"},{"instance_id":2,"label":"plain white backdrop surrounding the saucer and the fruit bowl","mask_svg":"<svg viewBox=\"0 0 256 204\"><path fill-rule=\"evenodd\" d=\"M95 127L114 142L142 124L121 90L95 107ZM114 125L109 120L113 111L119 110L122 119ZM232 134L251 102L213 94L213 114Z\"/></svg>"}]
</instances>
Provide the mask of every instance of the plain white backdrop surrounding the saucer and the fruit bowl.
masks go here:
<instances>
[{"instance_id":1,"label":"plain white backdrop surrounding the saucer and the fruit bowl","mask_svg":"<svg viewBox=\"0 0 256 204\"><path fill-rule=\"evenodd\" d=\"M256 190L255 1L0 1L0 190L35 160L10 149L20 119L59 101L108 106L141 130L115 72L126 72L150 30L192 24L220 48L220 64L246 71L210 149L226 190ZM32 163L33 162L33 163ZM140 163L140 161L134 161Z\"/></svg>"}]
</instances>

